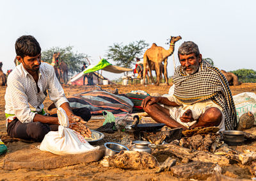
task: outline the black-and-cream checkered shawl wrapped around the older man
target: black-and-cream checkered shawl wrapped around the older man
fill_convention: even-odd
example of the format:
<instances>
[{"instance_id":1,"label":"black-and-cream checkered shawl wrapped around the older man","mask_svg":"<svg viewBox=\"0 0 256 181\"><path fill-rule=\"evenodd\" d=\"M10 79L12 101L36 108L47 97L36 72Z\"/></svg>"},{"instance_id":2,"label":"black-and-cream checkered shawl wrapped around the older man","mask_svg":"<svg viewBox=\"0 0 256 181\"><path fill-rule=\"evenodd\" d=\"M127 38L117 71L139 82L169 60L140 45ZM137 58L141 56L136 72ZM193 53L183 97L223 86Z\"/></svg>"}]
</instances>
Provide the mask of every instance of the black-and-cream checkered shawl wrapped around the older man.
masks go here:
<instances>
[{"instance_id":1,"label":"black-and-cream checkered shawl wrapped around the older man","mask_svg":"<svg viewBox=\"0 0 256 181\"><path fill-rule=\"evenodd\" d=\"M174 96L184 104L211 99L223 109L226 130L236 129L236 107L227 79L218 68L212 67L207 61L203 60L200 68L201 71L192 75L186 75L181 66L175 69Z\"/></svg>"}]
</instances>

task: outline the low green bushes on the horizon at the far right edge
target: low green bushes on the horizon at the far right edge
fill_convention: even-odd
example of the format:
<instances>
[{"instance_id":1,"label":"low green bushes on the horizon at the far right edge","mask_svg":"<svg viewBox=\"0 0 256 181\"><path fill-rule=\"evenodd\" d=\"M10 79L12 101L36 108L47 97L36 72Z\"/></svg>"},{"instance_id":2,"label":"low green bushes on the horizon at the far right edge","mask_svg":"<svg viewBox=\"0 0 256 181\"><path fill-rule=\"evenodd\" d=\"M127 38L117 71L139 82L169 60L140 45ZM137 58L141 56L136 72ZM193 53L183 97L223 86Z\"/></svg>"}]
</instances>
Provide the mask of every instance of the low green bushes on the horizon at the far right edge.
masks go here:
<instances>
[{"instance_id":1,"label":"low green bushes on the horizon at the far right edge","mask_svg":"<svg viewBox=\"0 0 256 181\"><path fill-rule=\"evenodd\" d=\"M239 81L243 83L256 83L256 71L252 69L239 69L231 71L237 75Z\"/></svg>"}]
</instances>

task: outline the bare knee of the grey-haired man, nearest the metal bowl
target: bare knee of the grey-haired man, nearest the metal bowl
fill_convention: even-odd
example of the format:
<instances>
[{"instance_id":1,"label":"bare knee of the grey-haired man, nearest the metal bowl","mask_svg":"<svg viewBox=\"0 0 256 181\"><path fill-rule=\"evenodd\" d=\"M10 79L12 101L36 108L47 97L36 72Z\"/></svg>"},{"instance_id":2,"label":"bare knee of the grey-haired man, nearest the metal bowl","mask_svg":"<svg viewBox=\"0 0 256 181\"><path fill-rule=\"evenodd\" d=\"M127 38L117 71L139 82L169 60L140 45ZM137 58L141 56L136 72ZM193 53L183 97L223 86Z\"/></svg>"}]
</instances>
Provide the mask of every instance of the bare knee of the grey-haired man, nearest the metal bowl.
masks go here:
<instances>
[{"instance_id":1,"label":"bare knee of the grey-haired man, nearest the metal bowl","mask_svg":"<svg viewBox=\"0 0 256 181\"><path fill-rule=\"evenodd\" d=\"M209 124L209 126L220 125L222 119L222 112L217 107L210 107L202 116L202 121Z\"/></svg>"}]
</instances>

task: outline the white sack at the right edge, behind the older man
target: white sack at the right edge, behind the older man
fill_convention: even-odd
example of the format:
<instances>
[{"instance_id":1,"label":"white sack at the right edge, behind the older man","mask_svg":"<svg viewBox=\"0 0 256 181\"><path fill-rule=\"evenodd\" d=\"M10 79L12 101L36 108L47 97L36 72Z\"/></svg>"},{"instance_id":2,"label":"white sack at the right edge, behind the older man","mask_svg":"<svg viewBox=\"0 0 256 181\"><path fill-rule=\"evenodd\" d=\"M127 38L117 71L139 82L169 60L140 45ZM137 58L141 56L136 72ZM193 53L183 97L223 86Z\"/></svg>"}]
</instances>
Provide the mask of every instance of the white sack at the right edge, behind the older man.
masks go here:
<instances>
[{"instance_id":1,"label":"white sack at the right edge, behind the older man","mask_svg":"<svg viewBox=\"0 0 256 181\"><path fill-rule=\"evenodd\" d=\"M250 111L256 121L256 95L253 92L243 92L233 96L236 106L237 122L244 113Z\"/></svg>"}]
</instances>

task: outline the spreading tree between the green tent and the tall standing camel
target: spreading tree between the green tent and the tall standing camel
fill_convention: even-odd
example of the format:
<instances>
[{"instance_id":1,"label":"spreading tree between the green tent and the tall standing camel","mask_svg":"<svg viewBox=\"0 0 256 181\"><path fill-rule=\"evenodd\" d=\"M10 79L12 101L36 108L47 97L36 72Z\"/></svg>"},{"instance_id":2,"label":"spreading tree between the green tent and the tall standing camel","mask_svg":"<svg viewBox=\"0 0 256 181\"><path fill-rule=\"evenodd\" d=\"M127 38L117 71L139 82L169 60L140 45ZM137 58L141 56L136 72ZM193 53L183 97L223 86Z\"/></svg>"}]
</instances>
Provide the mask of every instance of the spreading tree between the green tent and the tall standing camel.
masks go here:
<instances>
[{"instance_id":1,"label":"spreading tree between the green tent and the tall standing camel","mask_svg":"<svg viewBox=\"0 0 256 181\"><path fill-rule=\"evenodd\" d=\"M145 40L131 42L128 45L114 43L113 46L109 46L106 56L115 61L117 66L131 68L135 63L135 58L140 57L146 47L148 47L148 43L145 43Z\"/></svg>"}]
</instances>

